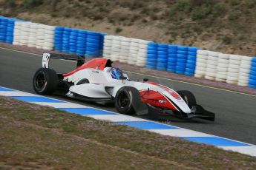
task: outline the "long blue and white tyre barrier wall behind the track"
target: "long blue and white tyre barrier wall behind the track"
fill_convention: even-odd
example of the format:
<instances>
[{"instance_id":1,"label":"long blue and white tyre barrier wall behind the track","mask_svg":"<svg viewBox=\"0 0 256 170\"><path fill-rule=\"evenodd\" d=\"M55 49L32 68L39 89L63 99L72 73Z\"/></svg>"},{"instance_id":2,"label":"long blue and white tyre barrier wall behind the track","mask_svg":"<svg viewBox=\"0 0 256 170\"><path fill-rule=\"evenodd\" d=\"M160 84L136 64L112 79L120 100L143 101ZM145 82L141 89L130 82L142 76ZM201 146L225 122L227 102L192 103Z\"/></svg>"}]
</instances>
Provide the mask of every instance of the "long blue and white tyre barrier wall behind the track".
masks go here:
<instances>
[{"instance_id":1,"label":"long blue and white tyre barrier wall behind the track","mask_svg":"<svg viewBox=\"0 0 256 170\"><path fill-rule=\"evenodd\" d=\"M89 30L54 27L0 16L0 42L105 57L148 69L256 88L255 61L242 55L157 44ZM252 68L251 68L252 63Z\"/></svg>"}]
</instances>

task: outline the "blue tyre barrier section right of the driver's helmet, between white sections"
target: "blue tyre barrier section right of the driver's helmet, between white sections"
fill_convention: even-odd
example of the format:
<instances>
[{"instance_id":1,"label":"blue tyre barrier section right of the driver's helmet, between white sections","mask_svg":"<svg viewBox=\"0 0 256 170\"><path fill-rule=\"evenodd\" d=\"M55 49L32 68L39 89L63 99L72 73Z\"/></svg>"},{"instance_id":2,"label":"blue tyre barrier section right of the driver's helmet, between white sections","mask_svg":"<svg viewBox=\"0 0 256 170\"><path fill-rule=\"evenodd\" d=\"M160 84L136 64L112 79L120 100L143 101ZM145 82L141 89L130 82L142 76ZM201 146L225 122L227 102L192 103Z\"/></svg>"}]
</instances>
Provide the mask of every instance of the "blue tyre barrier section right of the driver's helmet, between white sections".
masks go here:
<instances>
[{"instance_id":1,"label":"blue tyre barrier section right of the driver's helmet, between white sections","mask_svg":"<svg viewBox=\"0 0 256 170\"><path fill-rule=\"evenodd\" d=\"M197 50L196 47L149 43L146 67L193 76Z\"/></svg>"}]
</instances>

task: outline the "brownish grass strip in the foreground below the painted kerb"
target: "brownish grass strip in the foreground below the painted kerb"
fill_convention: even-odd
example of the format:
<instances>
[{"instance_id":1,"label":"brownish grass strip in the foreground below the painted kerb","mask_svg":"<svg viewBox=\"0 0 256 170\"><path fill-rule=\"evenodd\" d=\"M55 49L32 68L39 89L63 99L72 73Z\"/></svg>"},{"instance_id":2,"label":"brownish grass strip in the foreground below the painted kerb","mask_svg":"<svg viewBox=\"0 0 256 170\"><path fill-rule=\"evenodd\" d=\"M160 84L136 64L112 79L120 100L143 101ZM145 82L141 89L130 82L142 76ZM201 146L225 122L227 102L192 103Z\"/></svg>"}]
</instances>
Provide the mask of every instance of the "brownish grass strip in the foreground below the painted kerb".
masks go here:
<instances>
[{"instance_id":1,"label":"brownish grass strip in the foreground below the painted kerb","mask_svg":"<svg viewBox=\"0 0 256 170\"><path fill-rule=\"evenodd\" d=\"M256 169L256 159L0 97L0 169Z\"/></svg>"}]
</instances>

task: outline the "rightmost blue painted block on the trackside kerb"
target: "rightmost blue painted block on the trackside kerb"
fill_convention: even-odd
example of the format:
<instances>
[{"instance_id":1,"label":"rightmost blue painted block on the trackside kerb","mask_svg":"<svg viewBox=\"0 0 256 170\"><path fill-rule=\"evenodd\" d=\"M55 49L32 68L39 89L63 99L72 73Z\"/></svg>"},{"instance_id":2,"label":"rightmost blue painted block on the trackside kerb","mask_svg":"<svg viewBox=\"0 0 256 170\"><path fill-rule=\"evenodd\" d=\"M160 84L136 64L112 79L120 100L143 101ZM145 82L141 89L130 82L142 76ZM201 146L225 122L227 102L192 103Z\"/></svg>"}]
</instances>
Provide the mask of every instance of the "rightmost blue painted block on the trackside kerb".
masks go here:
<instances>
[{"instance_id":1,"label":"rightmost blue painted block on the trackside kerb","mask_svg":"<svg viewBox=\"0 0 256 170\"><path fill-rule=\"evenodd\" d=\"M205 143L213 146L251 146L246 143L240 143L233 140L223 139L221 137L182 137L196 143Z\"/></svg>"}]
</instances>

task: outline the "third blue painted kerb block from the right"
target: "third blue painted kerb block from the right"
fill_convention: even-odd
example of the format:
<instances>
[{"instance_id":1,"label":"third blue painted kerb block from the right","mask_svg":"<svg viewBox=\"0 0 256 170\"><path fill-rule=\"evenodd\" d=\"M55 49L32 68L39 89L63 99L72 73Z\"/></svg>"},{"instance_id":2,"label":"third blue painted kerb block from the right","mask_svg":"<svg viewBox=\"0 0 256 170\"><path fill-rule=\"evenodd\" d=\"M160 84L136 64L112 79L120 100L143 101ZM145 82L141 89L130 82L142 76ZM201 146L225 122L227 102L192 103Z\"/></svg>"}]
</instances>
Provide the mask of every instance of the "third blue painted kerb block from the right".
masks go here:
<instances>
[{"instance_id":1,"label":"third blue painted kerb block from the right","mask_svg":"<svg viewBox=\"0 0 256 170\"><path fill-rule=\"evenodd\" d=\"M58 108L61 110L65 110L66 112L75 113L79 115L118 115L114 112L108 112L100 109L93 108Z\"/></svg>"}]
</instances>

